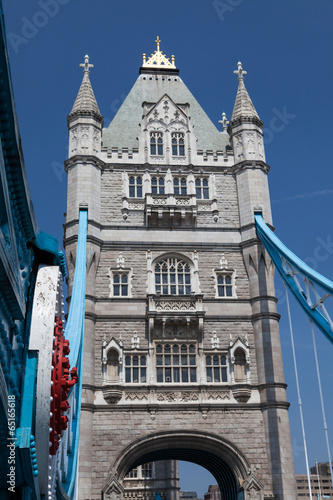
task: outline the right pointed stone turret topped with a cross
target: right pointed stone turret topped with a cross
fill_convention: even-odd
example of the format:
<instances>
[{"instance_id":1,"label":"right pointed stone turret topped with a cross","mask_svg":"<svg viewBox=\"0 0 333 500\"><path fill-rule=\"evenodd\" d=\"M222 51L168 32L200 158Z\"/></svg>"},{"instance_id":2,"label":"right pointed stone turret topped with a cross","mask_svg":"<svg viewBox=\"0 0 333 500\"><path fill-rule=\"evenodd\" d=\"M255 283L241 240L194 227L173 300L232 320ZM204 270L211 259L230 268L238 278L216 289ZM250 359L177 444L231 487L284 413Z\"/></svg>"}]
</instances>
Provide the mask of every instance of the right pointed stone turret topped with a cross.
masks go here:
<instances>
[{"instance_id":1,"label":"right pointed stone turret topped with a cross","mask_svg":"<svg viewBox=\"0 0 333 500\"><path fill-rule=\"evenodd\" d=\"M238 69L234 71L238 79L238 90L228 126L230 141L233 145L235 162L244 160L265 161L263 146L263 122L250 99L244 85L242 63L237 64Z\"/></svg>"}]
</instances>

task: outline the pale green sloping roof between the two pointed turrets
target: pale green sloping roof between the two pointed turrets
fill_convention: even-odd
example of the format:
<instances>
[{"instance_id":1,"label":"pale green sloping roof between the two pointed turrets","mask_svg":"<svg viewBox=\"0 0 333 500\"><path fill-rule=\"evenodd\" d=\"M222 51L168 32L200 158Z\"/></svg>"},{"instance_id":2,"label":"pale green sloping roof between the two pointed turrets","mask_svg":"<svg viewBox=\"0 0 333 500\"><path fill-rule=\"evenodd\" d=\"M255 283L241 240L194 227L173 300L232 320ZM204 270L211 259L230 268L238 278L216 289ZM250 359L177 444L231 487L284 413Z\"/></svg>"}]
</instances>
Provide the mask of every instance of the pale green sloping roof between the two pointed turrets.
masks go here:
<instances>
[{"instance_id":1,"label":"pale green sloping roof between the two pointed turrets","mask_svg":"<svg viewBox=\"0 0 333 500\"><path fill-rule=\"evenodd\" d=\"M167 94L175 104L189 104L198 150L223 151L229 144L228 134L221 133L208 118L184 82L175 75L141 74L107 129L103 130L103 146L137 148L142 103L157 103Z\"/></svg>"}]
</instances>

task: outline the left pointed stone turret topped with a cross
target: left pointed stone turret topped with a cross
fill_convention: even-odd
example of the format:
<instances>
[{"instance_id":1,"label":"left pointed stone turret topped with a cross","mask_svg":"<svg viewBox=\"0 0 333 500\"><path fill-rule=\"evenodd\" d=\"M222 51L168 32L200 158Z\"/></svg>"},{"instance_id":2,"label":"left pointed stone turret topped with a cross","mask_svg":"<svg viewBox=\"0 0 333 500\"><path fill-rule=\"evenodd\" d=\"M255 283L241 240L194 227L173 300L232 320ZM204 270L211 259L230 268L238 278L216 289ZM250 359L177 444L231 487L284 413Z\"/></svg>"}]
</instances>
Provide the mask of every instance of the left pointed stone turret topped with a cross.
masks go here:
<instances>
[{"instance_id":1,"label":"left pointed stone turret topped with a cross","mask_svg":"<svg viewBox=\"0 0 333 500\"><path fill-rule=\"evenodd\" d=\"M69 157L76 154L98 154L101 148L101 132L103 116L99 110L94 91L90 83L89 56L84 57L83 80L74 102L72 111L67 117L69 132Z\"/></svg>"}]
</instances>

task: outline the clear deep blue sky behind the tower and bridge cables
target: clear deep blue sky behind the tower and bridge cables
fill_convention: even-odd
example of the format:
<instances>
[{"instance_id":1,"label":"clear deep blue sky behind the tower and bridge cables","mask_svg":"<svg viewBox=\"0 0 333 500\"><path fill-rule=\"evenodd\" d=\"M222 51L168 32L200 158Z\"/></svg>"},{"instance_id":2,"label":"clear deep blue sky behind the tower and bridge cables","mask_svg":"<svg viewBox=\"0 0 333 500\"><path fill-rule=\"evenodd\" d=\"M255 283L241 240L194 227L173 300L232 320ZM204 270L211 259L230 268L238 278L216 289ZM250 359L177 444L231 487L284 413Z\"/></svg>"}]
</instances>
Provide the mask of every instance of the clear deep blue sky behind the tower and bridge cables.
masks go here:
<instances>
[{"instance_id":1,"label":"clear deep blue sky behind the tower and bridge cables","mask_svg":"<svg viewBox=\"0 0 333 500\"><path fill-rule=\"evenodd\" d=\"M230 119L237 62L265 122L266 158L276 234L298 256L333 278L331 0L4 0L14 92L26 168L41 229L62 241L66 211L66 117L82 80L91 82L112 119L134 84L142 53L157 35L180 76L219 127ZM282 118L281 118L282 117ZM282 285L276 282L278 296ZM286 303L278 304L296 472L305 472ZM326 461L308 321L292 302L309 461ZM333 415L333 346L318 333L326 416ZM183 489L201 495L210 480L193 470Z\"/></svg>"}]
</instances>

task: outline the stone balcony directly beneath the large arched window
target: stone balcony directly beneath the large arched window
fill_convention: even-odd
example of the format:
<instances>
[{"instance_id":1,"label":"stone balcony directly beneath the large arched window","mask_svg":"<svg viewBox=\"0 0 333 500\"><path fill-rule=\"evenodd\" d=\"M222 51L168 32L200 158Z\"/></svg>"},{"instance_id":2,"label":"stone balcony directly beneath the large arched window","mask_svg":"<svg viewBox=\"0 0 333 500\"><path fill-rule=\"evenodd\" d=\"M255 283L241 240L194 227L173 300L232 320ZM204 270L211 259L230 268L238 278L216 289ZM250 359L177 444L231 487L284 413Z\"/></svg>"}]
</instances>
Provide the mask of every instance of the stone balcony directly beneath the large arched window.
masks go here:
<instances>
[{"instance_id":1,"label":"stone balcony directly beneath the large arched window","mask_svg":"<svg viewBox=\"0 0 333 500\"><path fill-rule=\"evenodd\" d=\"M203 295L148 295L147 317L151 338L199 338L205 312Z\"/></svg>"}]
</instances>

